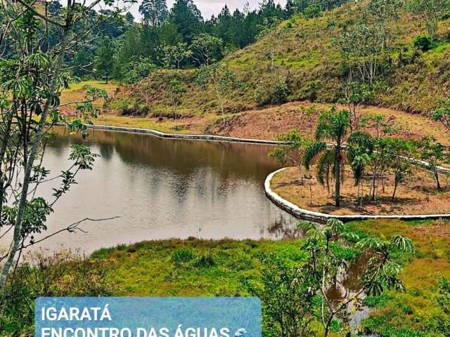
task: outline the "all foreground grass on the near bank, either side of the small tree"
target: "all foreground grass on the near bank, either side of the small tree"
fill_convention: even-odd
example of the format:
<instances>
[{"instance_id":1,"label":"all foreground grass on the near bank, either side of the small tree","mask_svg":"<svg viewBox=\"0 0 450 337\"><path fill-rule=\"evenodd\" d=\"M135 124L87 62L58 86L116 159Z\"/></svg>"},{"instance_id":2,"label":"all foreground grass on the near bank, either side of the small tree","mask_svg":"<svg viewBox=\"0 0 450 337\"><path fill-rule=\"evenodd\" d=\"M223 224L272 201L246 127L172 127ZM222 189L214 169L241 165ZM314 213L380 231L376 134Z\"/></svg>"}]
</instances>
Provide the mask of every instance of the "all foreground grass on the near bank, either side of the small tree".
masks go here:
<instances>
[{"instance_id":1,"label":"all foreground grass on the near bank, either side of the small tree","mask_svg":"<svg viewBox=\"0 0 450 337\"><path fill-rule=\"evenodd\" d=\"M387 291L367 298L373 308L363 327L380 336L439 336L426 334L435 317L442 315L436 303L439 279L450 277L450 240L446 223L434 221L368 220L349 223L348 230L361 236L388 238L402 234L413 239L417 254L404 258L401 278L406 292ZM425 231L425 232L424 232ZM108 260L114 272L116 296L246 296L241 277L259 278L258 253L276 253L292 265L300 265L305 253L300 240L199 241L197 239L143 242L102 249L92 258ZM338 256L356 256L354 249L335 247ZM199 263L209 256L212 263Z\"/></svg>"}]
</instances>

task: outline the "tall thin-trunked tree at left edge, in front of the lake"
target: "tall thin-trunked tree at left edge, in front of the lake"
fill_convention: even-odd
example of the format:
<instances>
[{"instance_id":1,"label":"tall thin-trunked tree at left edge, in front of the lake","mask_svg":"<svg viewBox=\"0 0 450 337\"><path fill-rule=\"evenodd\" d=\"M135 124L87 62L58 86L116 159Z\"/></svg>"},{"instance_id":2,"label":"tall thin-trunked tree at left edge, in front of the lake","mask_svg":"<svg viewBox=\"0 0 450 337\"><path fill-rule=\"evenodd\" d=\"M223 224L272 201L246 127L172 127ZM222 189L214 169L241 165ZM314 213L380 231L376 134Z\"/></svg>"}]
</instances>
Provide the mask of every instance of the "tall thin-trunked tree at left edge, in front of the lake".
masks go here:
<instances>
[{"instance_id":1,"label":"tall thin-trunked tree at left edge, in front of the lake","mask_svg":"<svg viewBox=\"0 0 450 337\"><path fill-rule=\"evenodd\" d=\"M4 27L0 35L0 230L13 233L11 245L0 257L3 263L0 289L17 267L23 249L36 244L34 235L46 230L47 216L76 183L77 173L92 169L95 155L84 145L72 146L69 157L72 165L54 178L42 166L42 158L49 136L47 123L61 121L59 93L71 81L64 64L65 55L75 46L85 44L86 36L105 19L105 15L94 20L89 15L100 2L94 0L84 6L83 1L68 1L61 10L64 14L58 17L42 13L40 5L28 1L17 0L12 4L6 0L0 4ZM114 11L120 12L119 8ZM60 32L55 46L42 44L49 26ZM84 27L82 32L78 27ZM11 48L4 48L6 44ZM82 128L83 121L77 119L68 126L74 131ZM53 195L49 199L39 197L39 187L49 182L59 184L55 185ZM75 232L78 225L68 225L63 230Z\"/></svg>"}]
</instances>

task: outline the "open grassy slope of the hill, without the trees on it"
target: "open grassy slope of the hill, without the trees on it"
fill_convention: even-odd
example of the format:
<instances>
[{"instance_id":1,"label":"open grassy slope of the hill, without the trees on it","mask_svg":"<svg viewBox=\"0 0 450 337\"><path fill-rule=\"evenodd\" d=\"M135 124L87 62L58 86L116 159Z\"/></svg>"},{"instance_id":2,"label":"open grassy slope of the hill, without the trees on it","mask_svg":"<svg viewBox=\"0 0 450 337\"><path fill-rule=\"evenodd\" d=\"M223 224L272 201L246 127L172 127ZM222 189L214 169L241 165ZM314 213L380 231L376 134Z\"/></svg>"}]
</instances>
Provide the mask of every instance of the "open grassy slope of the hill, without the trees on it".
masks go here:
<instances>
[{"instance_id":1,"label":"open grassy slope of the hill, without the trees on it","mask_svg":"<svg viewBox=\"0 0 450 337\"><path fill-rule=\"evenodd\" d=\"M343 29L359 20L364 6L364 2L345 5L316 19L295 16L257 43L227 56L221 62L229 64L245 89L231 92L226 112L271 105L271 91L280 81L288 86L289 101L336 102L342 97L342 69L334 41ZM393 36L386 69L377 79L371 104L407 112L429 112L450 85L450 22L440 23L437 44L426 53L413 48L413 40L425 34L418 17L404 11L399 20L390 23L390 28ZM174 73L186 88L178 107L169 106L168 88ZM214 91L211 88L203 91L195 84L196 77L196 70L154 72L139 84L124 88L110 107L126 111L126 107L147 105L155 116L219 112Z\"/></svg>"}]
</instances>

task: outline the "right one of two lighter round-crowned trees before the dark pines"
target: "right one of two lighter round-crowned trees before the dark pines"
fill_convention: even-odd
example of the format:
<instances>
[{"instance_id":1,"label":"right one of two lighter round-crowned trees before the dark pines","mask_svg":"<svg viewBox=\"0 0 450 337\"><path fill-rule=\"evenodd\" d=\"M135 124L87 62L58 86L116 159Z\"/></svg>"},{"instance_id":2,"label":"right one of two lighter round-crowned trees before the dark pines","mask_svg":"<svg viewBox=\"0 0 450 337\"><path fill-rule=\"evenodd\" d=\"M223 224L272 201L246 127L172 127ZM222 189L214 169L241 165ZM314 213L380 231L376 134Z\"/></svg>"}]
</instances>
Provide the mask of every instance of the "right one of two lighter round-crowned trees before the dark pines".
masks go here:
<instances>
[{"instance_id":1,"label":"right one of two lighter round-crowned trees before the dark pines","mask_svg":"<svg viewBox=\"0 0 450 337\"><path fill-rule=\"evenodd\" d=\"M202 33L194 37L191 44L191 57L198 65L209 66L221 57L223 41L210 34Z\"/></svg>"}]
</instances>

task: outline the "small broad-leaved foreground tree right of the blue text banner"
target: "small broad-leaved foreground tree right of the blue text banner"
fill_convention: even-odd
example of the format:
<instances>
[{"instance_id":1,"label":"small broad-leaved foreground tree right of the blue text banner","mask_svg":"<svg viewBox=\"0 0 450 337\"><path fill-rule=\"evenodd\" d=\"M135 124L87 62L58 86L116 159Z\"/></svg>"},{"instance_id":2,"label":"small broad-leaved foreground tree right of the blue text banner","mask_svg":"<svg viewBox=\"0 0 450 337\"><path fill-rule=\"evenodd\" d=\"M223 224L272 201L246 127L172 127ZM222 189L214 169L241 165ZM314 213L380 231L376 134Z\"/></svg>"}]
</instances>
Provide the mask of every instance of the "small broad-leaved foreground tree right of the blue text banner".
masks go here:
<instances>
[{"instance_id":1,"label":"small broad-leaved foreground tree right of the blue text banner","mask_svg":"<svg viewBox=\"0 0 450 337\"><path fill-rule=\"evenodd\" d=\"M319 316L323 325L323 337L328 336L336 318L346 316L349 303L357 304L364 296L379 296L387 289L404 291L404 284L399 278L401 267L396 256L399 252L414 253L410 239L399 235L390 240L375 237L360 239L356 234L346 232L344 224L337 219L328 220L325 227L309 222L301 223L300 227L307 230L303 248L309 252L309 259L302 265L302 271L309 275L309 282L315 285L313 289L318 289L322 299ZM341 275L347 275L352 262L336 249L339 237L351 239L356 242L356 248L363 251L372 251L373 257L359 275L361 289L335 301L330 298L328 290L330 286L338 285Z\"/></svg>"}]
</instances>

